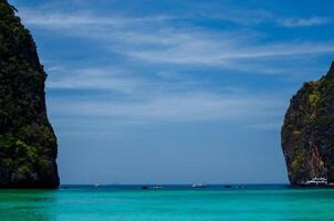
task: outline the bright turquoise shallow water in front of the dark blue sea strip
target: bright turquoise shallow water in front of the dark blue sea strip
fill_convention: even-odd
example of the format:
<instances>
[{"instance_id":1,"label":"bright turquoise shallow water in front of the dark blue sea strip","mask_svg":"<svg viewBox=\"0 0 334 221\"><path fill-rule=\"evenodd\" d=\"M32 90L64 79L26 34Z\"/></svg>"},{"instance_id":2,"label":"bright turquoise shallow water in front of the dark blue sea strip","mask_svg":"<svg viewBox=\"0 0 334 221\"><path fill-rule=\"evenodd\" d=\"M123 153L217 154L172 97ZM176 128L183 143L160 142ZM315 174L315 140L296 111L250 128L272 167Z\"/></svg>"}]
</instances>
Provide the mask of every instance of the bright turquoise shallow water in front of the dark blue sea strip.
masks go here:
<instances>
[{"instance_id":1,"label":"bright turquoise shallow water in front of the dark blue sea strip","mask_svg":"<svg viewBox=\"0 0 334 221\"><path fill-rule=\"evenodd\" d=\"M334 220L334 190L284 187L1 190L0 220Z\"/></svg>"}]
</instances>

